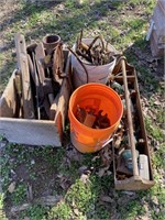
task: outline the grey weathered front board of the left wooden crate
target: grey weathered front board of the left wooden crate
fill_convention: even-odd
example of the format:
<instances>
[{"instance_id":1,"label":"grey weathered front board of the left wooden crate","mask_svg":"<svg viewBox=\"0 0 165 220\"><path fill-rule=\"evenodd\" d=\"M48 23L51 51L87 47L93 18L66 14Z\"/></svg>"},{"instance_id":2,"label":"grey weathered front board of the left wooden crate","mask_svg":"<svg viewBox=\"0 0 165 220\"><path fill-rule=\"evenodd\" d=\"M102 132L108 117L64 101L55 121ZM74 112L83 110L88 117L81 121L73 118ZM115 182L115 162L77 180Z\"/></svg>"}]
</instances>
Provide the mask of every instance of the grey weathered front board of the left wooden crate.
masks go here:
<instances>
[{"instance_id":1,"label":"grey weathered front board of the left wooden crate","mask_svg":"<svg viewBox=\"0 0 165 220\"><path fill-rule=\"evenodd\" d=\"M11 143L62 146L53 121L0 118L0 134Z\"/></svg>"}]
</instances>

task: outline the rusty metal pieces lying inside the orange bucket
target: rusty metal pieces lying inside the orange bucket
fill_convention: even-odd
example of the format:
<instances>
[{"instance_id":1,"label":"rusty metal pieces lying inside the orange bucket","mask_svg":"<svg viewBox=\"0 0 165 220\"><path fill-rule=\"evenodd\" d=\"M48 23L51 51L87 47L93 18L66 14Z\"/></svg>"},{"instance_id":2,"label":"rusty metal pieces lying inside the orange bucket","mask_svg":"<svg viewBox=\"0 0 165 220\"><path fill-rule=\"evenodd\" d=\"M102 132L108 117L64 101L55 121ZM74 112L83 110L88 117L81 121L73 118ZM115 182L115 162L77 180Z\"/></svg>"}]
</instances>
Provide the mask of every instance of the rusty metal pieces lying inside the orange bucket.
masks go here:
<instances>
[{"instance_id":1,"label":"rusty metal pieces lying inside the orange bucket","mask_svg":"<svg viewBox=\"0 0 165 220\"><path fill-rule=\"evenodd\" d=\"M76 118L77 120L86 127L92 129L106 129L110 127L110 120L108 114L101 114L103 110L97 111L91 107L80 108L77 106Z\"/></svg>"}]
</instances>

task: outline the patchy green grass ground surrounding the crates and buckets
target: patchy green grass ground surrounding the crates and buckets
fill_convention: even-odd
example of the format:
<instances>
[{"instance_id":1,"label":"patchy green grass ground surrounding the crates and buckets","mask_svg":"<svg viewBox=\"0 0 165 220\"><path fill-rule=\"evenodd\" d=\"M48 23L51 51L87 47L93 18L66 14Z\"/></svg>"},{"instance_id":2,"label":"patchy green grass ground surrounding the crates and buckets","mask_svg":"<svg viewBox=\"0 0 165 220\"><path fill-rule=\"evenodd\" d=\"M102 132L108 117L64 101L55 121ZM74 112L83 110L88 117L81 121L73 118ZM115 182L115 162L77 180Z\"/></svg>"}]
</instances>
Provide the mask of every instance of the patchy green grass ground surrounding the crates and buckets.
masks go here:
<instances>
[{"instance_id":1,"label":"patchy green grass ground surrounding the crates and buckets","mask_svg":"<svg viewBox=\"0 0 165 220\"><path fill-rule=\"evenodd\" d=\"M103 177L97 175L100 167L100 160L94 161L97 154L85 154L81 155L81 160L75 161L66 155L66 146L55 150L52 146L26 147L8 143L3 150L3 157L0 158L3 191L0 194L0 219L7 218L2 209L10 219L7 204L12 207L29 202L28 184L32 184L36 197L50 189L51 195L62 195L63 198L54 206L30 204L28 209L20 211L16 217L19 219L29 217L32 220L73 218L131 220L148 217L162 220L164 218L165 190L162 187L162 172L165 167L164 109L162 106L155 106L155 96L163 98L164 87L148 68L147 63L139 63L141 57L134 52L140 50L143 54L148 48L144 37L154 6L154 0L94 0L82 1L81 4L75 0L37 4L19 1L16 10L12 11L11 22L8 26L6 22L2 25L6 48L0 54L0 92L3 91L15 68L13 42L15 32L23 33L28 43L31 38L41 41L46 33L57 33L68 45L73 45L81 29L86 37L101 33L116 48L123 51L129 63L135 66L142 95L147 94L148 108L156 117L156 122L151 116L145 118L146 130L160 146L152 154L155 186L130 196L114 190L112 175ZM68 128L66 130L69 131ZM86 175L87 183L81 180L79 174L79 168L82 166L90 170ZM20 174L20 167L24 174ZM20 176L15 176L14 173ZM14 178L15 189L10 194L8 187ZM100 199L102 195L112 201L102 202Z\"/></svg>"}]
</instances>

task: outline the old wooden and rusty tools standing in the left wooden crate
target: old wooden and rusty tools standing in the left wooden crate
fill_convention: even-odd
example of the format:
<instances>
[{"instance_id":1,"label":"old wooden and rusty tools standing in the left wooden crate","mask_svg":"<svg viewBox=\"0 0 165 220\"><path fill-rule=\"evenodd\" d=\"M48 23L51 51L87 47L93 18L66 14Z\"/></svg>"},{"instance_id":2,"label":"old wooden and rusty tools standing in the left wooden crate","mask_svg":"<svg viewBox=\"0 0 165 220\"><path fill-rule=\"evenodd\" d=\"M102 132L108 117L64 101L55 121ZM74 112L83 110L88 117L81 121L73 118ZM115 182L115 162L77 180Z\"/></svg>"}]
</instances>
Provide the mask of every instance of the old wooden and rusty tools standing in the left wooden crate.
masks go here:
<instances>
[{"instance_id":1,"label":"old wooden and rusty tools standing in the left wooden crate","mask_svg":"<svg viewBox=\"0 0 165 220\"><path fill-rule=\"evenodd\" d=\"M25 45L15 34L18 69L15 72L15 118L54 120L64 74L63 44L46 50L43 42Z\"/></svg>"}]
</instances>

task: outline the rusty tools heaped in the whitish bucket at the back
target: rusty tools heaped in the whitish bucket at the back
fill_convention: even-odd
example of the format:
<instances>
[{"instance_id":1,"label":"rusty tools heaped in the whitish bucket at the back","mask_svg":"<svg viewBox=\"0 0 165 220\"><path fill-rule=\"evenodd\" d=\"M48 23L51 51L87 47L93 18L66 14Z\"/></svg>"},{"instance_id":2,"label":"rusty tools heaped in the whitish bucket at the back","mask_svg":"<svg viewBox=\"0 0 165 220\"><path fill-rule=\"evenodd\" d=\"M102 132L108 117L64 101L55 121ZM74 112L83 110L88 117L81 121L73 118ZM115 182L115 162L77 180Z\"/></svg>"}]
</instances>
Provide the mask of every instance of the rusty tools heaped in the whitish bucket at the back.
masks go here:
<instances>
[{"instance_id":1,"label":"rusty tools heaped in the whitish bucket at the back","mask_svg":"<svg viewBox=\"0 0 165 220\"><path fill-rule=\"evenodd\" d=\"M75 55L84 63L98 66L112 62L114 52L110 51L109 44L102 35L86 43L81 32L77 37Z\"/></svg>"}]
</instances>

